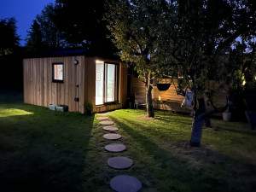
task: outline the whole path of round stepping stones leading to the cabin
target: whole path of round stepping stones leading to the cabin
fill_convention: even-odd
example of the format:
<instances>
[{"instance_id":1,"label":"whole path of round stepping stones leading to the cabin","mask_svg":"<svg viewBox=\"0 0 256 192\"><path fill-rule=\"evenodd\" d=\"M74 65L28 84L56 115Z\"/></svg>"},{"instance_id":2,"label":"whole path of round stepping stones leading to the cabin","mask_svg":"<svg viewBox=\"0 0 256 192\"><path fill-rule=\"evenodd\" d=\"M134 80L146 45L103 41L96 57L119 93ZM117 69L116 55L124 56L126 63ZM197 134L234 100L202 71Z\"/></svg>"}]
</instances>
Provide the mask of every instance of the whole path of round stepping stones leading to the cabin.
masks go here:
<instances>
[{"instance_id":1,"label":"whole path of round stepping stones leading to the cabin","mask_svg":"<svg viewBox=\"0 0 256 192\"><path fill-rule=\"evenodd\" d=\"M113 121L106 120L108 119L108 114L110 113L98 113L97 117L99 120L103 120L100 122L101 125L113 125ZM119 131L119 128L114 126L104 126L103 130L105 131ZM108 133L103 136L109 140L115 140L121 138L121 135L115 133ZM121 152L126 149L125 145L120 143L111 143L105 146L105 149L109 152ZM124 156L117 156L108 159L108 166L113 169L127 169L133 165L133 160ZM113 177L110 181L110 186L115 191L119 192L137 192L142 189L142 183L136 178L129 175L119 175Z\"/></svg>"}]
</instances>

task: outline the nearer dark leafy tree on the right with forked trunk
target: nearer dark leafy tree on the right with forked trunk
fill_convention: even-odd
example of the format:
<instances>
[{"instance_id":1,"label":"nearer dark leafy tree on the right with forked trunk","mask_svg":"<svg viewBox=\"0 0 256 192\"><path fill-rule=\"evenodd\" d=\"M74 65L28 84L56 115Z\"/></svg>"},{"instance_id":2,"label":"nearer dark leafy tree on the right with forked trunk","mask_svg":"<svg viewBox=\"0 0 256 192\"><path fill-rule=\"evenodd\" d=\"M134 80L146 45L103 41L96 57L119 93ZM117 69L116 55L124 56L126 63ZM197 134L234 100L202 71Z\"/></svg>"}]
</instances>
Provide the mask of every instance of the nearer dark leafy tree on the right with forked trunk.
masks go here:
<instances>
[{"instance_id":1,"label":"nearer dark leafy tree on the right with forked trunk","mask_svg":"<svg viewBox=\"0 0 256 192\"><path fill-rule=\"evenodd\" d=\"M180 0L169 3L169 6L169 25L159 38L157 49L161 49L158 52L160 58L168 58L164 66L172 68L169 72L173 74L173 69L176 69L184 84L194 92L195 117L190 144L200 146L207 114L218 113L228 107L213 106L214 110L206 112L205 98L207 96L211 100L210 94L214 91L209 90L206 82L212 79L221 83L224 79L227 57L230 57L230 47L236 38L247 37L243 55L247 48L250 49L255 38L255 3L250 0ZM230 70L226 72L232 73Z\"/></svg>"}]
</instances>

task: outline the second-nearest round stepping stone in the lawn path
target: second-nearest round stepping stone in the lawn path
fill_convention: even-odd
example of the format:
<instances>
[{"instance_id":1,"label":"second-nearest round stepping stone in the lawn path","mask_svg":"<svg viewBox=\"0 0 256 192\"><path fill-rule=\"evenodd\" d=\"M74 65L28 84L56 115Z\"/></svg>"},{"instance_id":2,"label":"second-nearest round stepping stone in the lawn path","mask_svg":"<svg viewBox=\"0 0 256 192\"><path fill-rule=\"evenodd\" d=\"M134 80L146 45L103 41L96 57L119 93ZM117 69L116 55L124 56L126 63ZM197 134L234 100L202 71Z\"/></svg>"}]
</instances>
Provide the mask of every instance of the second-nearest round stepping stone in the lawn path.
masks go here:
<instances>
[{"instance_id":1,"label":"second-nearest round stepping stone in the lawn path","mask_svg":"<svg viewBox=\"0 0 256 192\"><path fill-rule=\"evenodd\" d=\"M128 157L112 157L108 159L108 166L114 169L127 169L132 166L133 162Z\"/></svg>"}]
</instances>

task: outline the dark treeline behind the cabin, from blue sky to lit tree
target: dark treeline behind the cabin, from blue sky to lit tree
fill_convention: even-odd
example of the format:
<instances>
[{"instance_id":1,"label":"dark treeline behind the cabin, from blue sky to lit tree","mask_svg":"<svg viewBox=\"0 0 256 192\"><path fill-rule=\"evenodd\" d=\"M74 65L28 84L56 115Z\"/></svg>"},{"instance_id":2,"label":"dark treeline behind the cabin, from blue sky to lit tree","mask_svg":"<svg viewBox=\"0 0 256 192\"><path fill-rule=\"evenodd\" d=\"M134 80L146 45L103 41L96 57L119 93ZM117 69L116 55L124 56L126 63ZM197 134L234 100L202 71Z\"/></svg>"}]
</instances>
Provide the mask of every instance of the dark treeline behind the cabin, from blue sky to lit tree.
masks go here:
<instances>
[{"instance_id":1,"label":"dark treeline behind the cabin, from blue sky to lit tree","mask_svg":"<svg viewBox=\"0 0 256 192\"><path fill-rule=\"evenodd\" d=\"M117 49L108 38L105 0L58 0L33 20L26 48L33 55L51 50L84 49L87 55L113 57Z\"/></svg>"}]
</instances>

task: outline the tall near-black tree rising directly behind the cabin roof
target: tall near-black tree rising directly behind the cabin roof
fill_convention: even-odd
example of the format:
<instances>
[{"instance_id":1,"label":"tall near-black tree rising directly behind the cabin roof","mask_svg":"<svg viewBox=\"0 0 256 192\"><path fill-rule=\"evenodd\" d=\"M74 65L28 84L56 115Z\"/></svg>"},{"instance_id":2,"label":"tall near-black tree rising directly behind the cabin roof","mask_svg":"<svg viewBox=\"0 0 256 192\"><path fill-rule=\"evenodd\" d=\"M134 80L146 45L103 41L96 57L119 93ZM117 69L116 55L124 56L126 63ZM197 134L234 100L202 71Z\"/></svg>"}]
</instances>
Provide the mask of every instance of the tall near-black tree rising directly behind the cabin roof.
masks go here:
<instances>
[{"instance_id":1,"label":"tall near-black tree rising directly behind the cabin roof","mask_svg":"<svg viewBox=\"0 0 256 192\"><path fill-rule=\"evenodd\" d=\"M108 39L106 0L57 0L54 20L63 37L73 47L83 47L87 54L113 56L117 49Z\"/></svg>"}]
</instances>

